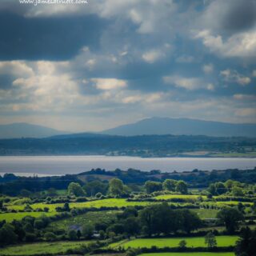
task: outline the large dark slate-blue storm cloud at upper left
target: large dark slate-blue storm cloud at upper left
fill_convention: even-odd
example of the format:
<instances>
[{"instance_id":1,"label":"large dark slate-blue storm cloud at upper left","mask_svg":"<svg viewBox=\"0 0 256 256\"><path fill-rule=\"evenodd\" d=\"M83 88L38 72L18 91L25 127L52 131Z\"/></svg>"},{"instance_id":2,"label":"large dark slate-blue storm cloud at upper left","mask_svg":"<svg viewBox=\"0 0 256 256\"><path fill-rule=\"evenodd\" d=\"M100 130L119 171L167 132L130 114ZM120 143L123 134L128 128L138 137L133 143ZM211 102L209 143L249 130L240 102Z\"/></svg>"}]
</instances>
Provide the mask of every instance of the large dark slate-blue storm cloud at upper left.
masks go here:
<instances>
[{"instance_id":1,"label":"large dark slate-blue storm cloud at upper left","mask_svg":"<svg viewBox=\"0 0 256 256\"><path fill-rule=\"evenodd\" d=\"M82 46L98 48L104 27L96 15L24 18L0 13L0 60L66 60Z\"/></svg>"}]
</instances>

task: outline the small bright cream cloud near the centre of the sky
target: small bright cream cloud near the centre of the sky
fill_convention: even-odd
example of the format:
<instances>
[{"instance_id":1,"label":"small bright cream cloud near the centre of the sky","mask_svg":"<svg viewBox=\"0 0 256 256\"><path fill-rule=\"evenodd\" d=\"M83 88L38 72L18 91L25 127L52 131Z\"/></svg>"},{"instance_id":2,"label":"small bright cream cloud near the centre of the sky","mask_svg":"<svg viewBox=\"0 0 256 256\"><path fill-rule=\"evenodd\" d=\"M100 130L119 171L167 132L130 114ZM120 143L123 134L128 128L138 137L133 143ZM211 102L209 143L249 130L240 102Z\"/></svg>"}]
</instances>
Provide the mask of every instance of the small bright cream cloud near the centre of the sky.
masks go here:
<instances>
[{"instance_id":1,"label":"small bright cream cloud near the centre of the sky","mask_svg":"<svg viewBox=\"0 0 256 256\"><path fill-rule=\"evenodd\" d=\"M95 86L99 90L115 90L122 89L127 86L125 80L115 78L91 78Z\"/></svg>"}]
</instances>

